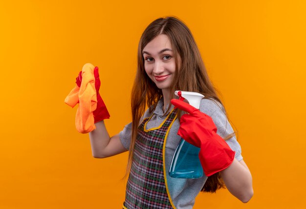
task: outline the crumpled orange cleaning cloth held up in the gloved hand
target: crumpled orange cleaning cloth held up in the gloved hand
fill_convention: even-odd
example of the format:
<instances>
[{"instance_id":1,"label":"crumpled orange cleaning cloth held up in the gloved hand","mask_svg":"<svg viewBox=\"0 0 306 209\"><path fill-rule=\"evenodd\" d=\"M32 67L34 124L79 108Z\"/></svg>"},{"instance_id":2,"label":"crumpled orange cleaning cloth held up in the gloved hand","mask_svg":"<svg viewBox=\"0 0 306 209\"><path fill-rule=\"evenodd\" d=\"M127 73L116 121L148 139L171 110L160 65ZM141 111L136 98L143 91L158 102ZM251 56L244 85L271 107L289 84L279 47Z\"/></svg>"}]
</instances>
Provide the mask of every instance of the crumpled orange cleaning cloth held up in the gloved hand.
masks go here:
<instances>
[{"instance_id":1,"label":"crumpled orange cleaning cloth held up in the gloved hand","mask_svg":"<svg viewBox=\"0 0 306 209\"><path fill-rule=\"evenodd\" d=\"M97 108L93 70L94 66L90 63L83 66L81 86L76 85L65 99L65 103L72 108L79 103L75 116L75 127L79 133L89 133L96 128L92 114Z\"/></svg>"}]
</instances>

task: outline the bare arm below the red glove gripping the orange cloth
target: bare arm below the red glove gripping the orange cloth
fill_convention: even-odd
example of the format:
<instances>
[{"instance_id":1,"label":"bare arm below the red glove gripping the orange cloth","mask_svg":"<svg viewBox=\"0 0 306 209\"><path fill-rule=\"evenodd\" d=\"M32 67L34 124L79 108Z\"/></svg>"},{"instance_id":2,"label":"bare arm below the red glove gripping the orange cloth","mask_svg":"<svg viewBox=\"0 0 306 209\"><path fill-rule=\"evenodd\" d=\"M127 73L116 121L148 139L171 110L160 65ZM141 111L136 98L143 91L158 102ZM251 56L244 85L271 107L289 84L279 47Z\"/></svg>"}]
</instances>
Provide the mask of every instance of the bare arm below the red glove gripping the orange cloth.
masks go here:
<instances>
[{"instance_id":1,"label":"bare arm below the red glove gripping the orange cloth","mask_svg":"<svg viewBox=\"0 0 306 209\"><path fill-rule=\"evenodd\" d=\"M120 141L119 134L109 137L103 120L95 123L95 126L96 129L89 133L93 157L105 158L127 151Z\"/></svg>"}]
</instances>

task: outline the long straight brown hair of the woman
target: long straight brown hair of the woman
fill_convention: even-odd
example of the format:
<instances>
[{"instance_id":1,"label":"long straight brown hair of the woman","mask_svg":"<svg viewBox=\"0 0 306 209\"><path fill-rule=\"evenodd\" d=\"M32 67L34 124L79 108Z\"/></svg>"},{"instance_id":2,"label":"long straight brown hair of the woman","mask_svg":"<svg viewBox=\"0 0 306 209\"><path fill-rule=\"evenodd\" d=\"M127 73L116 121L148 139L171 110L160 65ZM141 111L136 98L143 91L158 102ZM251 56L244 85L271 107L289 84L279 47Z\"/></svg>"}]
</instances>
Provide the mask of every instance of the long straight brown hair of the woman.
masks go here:
<instances>
[{"instance_id":1,"label":"long straight brown hair of the woman","mask_svg":"<svg viewBox=\"0 0 306 209\"><path fill-rule=\"evenodd\" d=\"M206 98L218 101L222 105L216 89L207 75L196 41L188 27L175 17L154 20L143 32L138 45L137 73L131 92L132 135L127 174L131 170L140 119L146 107L149 107L151 113L155 109L157 101L162 97L162 91L156 87L145 72L144 57L142 54L144 47L160 34L168 36L175 56L176 69L174 81L170 87L170 92L172 92L171 97L174 98L175 90L198 92L205 95ZM169 109L170 105L168 106L168 111ZM178 115L180 117L180 111ZM230 136L226 138L230 138ZM224 183L220 174L216 173L208 177L202 191L215 192L222 187L224 187Z\"/></svg>"}]
</instances>

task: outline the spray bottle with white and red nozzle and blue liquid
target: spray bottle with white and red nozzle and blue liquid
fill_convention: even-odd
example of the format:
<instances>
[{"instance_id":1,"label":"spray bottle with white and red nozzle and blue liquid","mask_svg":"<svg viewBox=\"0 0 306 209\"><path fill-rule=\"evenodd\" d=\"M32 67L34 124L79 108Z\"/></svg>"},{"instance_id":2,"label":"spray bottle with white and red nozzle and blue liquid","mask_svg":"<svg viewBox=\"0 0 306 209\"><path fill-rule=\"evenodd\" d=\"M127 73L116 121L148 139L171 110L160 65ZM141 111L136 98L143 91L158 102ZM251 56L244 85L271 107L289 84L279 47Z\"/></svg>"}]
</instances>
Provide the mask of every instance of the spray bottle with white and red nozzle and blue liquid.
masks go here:
<instances>
[{"instance_id":1,"label":"spray bottle with white and red nozzle and blue liquid","mask_svg":"<svg viewBox=\"0 0 306 209\"><path fill-rule=\"evenodd\" d=\"M204 97L195 92L175 91L180 100L186 99L190 105L199 109L200 101ZM169 175L173 178L200 178L203 176L203 169L198 157L200 148L188 143L181 138L178 144L171 165Z\"/></svg>"}]
</instances>

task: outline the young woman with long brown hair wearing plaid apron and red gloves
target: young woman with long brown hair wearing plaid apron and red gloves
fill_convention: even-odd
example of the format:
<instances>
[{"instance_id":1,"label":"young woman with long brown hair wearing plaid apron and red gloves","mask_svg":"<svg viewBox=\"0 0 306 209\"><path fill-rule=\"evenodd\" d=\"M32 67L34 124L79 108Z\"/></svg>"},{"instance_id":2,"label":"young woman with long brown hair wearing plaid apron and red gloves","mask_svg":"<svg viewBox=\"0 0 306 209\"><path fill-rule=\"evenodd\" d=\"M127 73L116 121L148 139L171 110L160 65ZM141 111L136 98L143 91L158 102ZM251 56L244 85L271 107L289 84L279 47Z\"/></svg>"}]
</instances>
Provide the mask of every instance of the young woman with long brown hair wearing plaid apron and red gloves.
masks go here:
<instances>
[{"instance_id":1,"label":"young woman with long brown hair wearing plaid apron and red gloves","mask_svg":"<svg viewBox=\"0 0 306 209\"><path fill-rule=\"evenodd\" d=\"M96 129L89 133L92 154L104 158L130 151L124 209L191 209L201 190L215 192L224 183L242 202L250 200L250 171L197 44L182 21L160 18L145 29L131 94L132 122L112 137L103 121L109 114L99 95L97 69L95 76L98 105L94 112ZM81 80L79 76L77 82ZM205 95L199 110L174 99L175 90ZM202 178L169 176L181 137L200 147Z\"/></svg>"}]
</instances>

